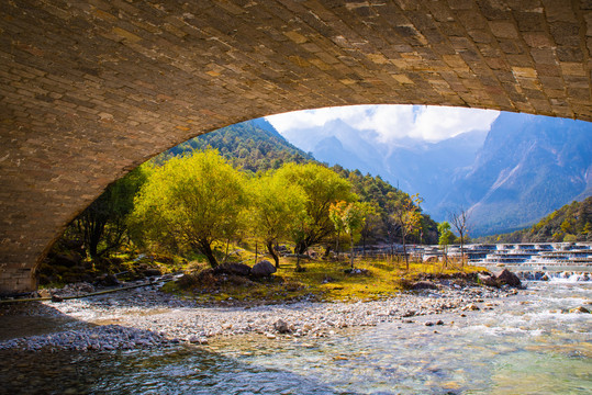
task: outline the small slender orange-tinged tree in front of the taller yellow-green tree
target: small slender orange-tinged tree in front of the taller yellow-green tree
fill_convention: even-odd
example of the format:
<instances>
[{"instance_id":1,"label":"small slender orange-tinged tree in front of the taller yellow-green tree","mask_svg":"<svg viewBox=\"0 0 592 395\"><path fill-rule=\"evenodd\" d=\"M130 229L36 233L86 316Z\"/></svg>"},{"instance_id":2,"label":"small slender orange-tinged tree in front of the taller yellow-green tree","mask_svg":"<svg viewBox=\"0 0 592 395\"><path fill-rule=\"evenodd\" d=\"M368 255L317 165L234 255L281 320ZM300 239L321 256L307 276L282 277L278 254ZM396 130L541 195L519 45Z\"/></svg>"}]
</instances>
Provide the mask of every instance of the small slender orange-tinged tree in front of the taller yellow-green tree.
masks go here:
<instances>
[{"instance_id":1,"label":"small slender orange-tinged tree in front of the taller yellow-green tree","mask_svg":"<svg viewBox=\"0 0 592 395\"><path fill-rule=\"evenodd\" d=\"M371 206L367 203L334 203L329 207L329 217L335 228L343 230L349 237L349 262L354 269L354 236L364 227Z\"/></svg>"}]
</instances>

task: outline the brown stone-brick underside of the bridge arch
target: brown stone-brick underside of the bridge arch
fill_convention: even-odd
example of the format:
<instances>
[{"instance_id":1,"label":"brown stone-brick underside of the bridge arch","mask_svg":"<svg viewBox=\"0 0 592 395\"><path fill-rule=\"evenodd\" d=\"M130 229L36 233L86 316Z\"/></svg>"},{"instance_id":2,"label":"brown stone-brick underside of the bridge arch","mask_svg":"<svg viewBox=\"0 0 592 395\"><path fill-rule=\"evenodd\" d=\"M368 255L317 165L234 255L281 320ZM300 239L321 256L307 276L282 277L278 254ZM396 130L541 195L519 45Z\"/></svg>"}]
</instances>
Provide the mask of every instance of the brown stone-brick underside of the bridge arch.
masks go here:
<instances>
[{"instance_id":1,"label":"brown stone-brick underside of the bridge arch","mask_svg":"<svg viewBox=\"0 0 592 395\"><path fill-rule=\"evenodd\" d=\"M113 180L190 137L347 104L592 120L592 2L0 4L0 293Z\"/></svg>"}]
</instances>

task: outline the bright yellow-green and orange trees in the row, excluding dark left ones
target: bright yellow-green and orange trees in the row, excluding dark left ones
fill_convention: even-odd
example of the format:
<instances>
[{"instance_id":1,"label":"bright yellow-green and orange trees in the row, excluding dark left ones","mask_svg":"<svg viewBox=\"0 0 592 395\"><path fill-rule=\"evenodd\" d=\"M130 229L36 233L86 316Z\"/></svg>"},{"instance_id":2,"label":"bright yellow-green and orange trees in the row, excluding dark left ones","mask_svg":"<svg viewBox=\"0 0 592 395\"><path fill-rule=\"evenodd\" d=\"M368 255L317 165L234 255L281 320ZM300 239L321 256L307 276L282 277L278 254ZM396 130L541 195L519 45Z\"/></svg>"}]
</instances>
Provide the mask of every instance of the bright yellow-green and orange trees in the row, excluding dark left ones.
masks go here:
<instances>
[{"instance_id":1,"label":"bright yellow-green and orange trees in the row, excluding dark left ones","mask_svg":"<svg viewBox=\"0 0 592 395\"><path fill-rule=\"evenodd\" d=\"M217 264L214 245L228 244L239 233L263 241L276 266L278 241L291 241L301 255L315 245L328 251L346 235L353 249L379 211L376 203L360 202L348 180L312 162L247 177L217 151L204 150L144 171L147 180L129 219L134 239L149 248L200 251L212 267ZM405 245L407 235L421 228L421 199L395 198L390 216Z\"/></svg>"}]
</instances>

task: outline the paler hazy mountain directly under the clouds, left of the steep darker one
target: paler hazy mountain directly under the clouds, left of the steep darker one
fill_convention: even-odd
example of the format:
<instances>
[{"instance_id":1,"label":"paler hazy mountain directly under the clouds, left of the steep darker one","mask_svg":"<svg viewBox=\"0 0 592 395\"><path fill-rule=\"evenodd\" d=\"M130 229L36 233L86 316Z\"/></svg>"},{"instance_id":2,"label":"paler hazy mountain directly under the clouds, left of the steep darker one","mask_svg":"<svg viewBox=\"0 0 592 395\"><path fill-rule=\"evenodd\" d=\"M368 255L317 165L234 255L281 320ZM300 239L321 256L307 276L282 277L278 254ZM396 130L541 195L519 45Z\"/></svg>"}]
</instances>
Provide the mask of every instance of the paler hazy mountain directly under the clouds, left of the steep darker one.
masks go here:
<instances>
[{"instance_id":1,"label":"paler hazy mountain directly under the clouds, left of the steep darker one","mask_svg":"<svg viewBox=\"0 0 592 395\"><path fill-rule=\"evenodd\" d=\"M418 192L426 211L439 202L451 176L472 163L487 135L465 133L439 143L407 140L392 148L369 142L367 131L360 133L342 121L332 121L316 132L299 129L290 135L297 134L300 139L314 135L311 153L321 161L380 174L409 193Z\"/></svg>"}]
</instances>

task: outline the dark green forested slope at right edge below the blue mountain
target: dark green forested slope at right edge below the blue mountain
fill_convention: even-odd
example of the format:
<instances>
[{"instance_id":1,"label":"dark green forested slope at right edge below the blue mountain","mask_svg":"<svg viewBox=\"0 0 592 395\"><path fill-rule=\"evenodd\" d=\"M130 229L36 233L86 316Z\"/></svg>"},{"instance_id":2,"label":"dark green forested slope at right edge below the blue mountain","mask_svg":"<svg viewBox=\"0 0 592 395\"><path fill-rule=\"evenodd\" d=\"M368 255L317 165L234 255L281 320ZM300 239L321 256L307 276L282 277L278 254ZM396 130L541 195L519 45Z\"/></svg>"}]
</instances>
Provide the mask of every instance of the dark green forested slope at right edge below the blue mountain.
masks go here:
<instances>
[{"instance_id":1,"label":"dark green forested slope at right edge below the blue mountain","mask_svg":"<svg viewBox=\"0 0 592 395\"><path fill-rule=\"evenodd\" d=\"M530 228L483 237L485 242L592 241L592 196L572 202Z\"/></svg>"}]
</instances>

